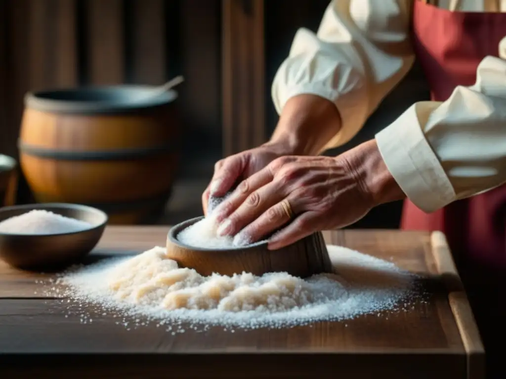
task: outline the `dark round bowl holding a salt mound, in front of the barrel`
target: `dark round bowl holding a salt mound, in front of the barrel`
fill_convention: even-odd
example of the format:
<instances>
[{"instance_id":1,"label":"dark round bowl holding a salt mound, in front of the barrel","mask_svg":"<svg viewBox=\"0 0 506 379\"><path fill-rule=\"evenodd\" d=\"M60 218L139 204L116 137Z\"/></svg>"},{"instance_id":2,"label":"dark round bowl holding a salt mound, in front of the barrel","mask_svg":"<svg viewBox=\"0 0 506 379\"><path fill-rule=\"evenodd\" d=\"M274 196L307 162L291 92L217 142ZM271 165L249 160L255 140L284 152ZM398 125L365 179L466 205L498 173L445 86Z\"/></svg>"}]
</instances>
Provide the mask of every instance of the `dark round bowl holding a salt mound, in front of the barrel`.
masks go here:
<instances>
[{"instance_id":1,"label":"dark round bowl holding a salt mound, in front of the barrel","mask_svg":"<svg viewBox=\"0 0 506 379\"><path fill-rule=\"evenodd\" d=\"M0 222L34 209L87 221L89 229L55 234L14 234L0 232L0 258L11 266L31 271L56 271L78 262L97 245L107 215L77 204L29 204L0 208Z\"/></svg>"}]
</instances>

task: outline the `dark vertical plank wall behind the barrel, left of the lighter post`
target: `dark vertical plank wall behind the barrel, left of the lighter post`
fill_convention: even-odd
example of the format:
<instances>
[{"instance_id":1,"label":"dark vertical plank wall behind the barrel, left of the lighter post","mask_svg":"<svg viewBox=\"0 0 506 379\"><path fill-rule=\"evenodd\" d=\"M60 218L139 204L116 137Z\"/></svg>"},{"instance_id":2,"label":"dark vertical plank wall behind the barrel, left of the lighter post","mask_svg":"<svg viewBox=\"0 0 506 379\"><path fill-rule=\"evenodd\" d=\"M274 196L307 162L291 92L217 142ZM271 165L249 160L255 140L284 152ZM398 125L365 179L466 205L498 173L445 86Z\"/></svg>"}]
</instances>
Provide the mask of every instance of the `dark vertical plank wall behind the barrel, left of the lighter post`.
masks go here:
<instances>
[{"instance_id":1,"label":"dark vertical plank wall behind the barrel, left of the lighter post","mask_svg":"<svg viewBox=\"0 0 506 379\"><path fill-rule=\"evenodd\" d=\"M220 0L0 0L0 153L17 156L29 90L183 74L184 154L219 158L220 15Z\"/></svg>"}]
</instances>

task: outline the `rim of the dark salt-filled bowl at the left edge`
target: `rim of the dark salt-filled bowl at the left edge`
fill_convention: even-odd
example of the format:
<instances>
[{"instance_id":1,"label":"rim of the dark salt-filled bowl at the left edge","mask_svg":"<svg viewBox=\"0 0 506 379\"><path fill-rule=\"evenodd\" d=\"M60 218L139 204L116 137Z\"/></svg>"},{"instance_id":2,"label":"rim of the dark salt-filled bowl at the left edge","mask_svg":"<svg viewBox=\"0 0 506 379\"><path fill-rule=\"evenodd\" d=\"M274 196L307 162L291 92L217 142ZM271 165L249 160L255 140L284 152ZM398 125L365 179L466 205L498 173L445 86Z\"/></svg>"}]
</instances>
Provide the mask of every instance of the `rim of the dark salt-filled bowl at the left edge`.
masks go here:
<instances>
[{"instance_id":1,"label":"rim of the dark salt-filled bowl at the left edge","mask_svg":"<svg viewBox=\"0 0 506 379\"><path fill-rule=\"evenodd\" d=\"M8 211L25 210L26 209L26 212L29 212L29 211L32 211L35 209L45 210L48 208L50 208L50 209L54 209L54 208L74 209L74 210L80 210L80 211L85 211L85 212L89 212L89 213L95 213L95 214L98 214L99 216L102 216L102 222L100 222L97 225L91 226L87 229L81 229L81 230L65 232L65 233L26 234L26 233L6 233L6 232L0 231L0 235L6 236L6 237L12 236L12 237L18 237L18 238L50 238L50 237L54 237L56 235L72 235L72 234L79 234L79 233L89 232L91 230L100 229L100 228L103 228L104 225L106 225L107 222L109 221L109 216L107 215L107 213L101 211L100 209L90 207L88 205L72 204L72 203L43 203L43 204L24 204L24 205L13 205L13 206L8 206L8 207L2 207L2 208L0 208L0 222L6 220L6 219L2 218L2 216L5 212L8 212Z\"/></svg>"}]
</instances>

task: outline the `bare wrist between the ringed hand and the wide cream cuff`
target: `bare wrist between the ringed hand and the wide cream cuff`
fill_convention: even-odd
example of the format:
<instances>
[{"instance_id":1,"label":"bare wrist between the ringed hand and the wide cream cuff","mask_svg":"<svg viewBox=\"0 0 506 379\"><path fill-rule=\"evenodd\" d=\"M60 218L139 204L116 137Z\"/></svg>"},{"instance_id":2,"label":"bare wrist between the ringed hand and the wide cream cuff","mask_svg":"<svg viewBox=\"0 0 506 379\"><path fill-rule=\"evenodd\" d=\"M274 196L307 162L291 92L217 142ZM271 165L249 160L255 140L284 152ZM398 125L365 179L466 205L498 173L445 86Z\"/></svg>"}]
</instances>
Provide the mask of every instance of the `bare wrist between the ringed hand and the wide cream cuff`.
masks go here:
<instances>
[{"instance_id":1,"label":"bare wrist between the ringed hand and the wide cream cuff","mask_svg":"<svg viewBox=\"0 0 506 379\"><path fill-rule=\"evenodd\" d=\"M372 207L406 198L383 160L375 139L342 155L360 182Z\"/></svg>"}]
</instances>

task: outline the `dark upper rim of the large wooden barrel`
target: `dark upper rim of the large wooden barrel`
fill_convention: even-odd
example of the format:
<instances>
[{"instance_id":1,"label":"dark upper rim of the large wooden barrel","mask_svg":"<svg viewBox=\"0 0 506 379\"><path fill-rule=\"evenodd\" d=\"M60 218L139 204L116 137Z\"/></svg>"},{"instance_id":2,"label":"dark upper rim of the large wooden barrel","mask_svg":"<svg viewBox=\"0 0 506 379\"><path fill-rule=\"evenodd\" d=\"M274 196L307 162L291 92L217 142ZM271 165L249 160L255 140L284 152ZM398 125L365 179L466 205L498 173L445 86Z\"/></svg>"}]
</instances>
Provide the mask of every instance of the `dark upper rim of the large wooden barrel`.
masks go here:
<instances>
[{"instance_id":1,"label":"dark upper rim of the large wooden barrel","mask_svg":"<svg viewBox=\"0 0 506 379\"><path fill-rule=\"evenodd\" d=\"M25 106L41 112L50 113L71 113L71 114L97 114L97 113L121 113L128 111L136 111L142 109L149 109L160 107L163 105L171 104L178 98L178 92L174 89L163 92L150 99L145 100L132 100L132 101L119 101L116 100L62 100L54 99L57 95L64 96L65 94L76 94L85 92L97 92L102 94L120 93L121 91L132 91L145 93L148 97L148 92L155 90L156 86L150 85L110 85L110 86L85 86L75 88L57 88L46 89L35 92L28 92L25 95Z\"/></svg>"}]
</instances>

